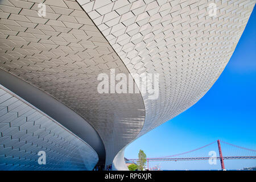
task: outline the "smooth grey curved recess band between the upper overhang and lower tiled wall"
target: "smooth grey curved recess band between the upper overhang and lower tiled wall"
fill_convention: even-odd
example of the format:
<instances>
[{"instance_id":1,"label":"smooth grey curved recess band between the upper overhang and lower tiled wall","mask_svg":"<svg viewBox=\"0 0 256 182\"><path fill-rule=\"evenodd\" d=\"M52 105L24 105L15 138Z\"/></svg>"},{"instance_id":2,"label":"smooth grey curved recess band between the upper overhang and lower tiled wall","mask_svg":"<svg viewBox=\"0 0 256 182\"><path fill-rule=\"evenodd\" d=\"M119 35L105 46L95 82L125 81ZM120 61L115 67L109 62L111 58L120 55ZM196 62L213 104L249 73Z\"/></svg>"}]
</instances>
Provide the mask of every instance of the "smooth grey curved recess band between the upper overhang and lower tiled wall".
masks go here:
<instances>
[{"instance_id":1,"label":"smooth grey curved recess band between the upper overhang and lower tiled wall","mask_svg":"<svg viewBox=\"0 0 256 182\"><path fill-rule=\"evenodd\" d=\"M49 96L39 88L0 69L0 85L11 90L23 100L72 131L77 137L88 143L96 152L99 163L105 163L105 147L97 131L75 111ZM71 122L72 121L72 122Z\"/></svg>"}]
</instances>

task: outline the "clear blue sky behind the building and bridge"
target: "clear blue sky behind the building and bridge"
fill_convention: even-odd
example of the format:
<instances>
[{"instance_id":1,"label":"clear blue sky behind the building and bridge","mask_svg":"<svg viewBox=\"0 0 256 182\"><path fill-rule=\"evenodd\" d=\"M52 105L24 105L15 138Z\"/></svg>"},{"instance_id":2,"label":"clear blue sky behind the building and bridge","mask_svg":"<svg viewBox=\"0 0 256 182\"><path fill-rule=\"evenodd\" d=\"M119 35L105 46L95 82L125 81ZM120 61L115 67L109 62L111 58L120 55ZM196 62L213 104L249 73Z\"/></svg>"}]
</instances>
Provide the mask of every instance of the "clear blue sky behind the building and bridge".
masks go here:
<instances>
[{"instance_id":1,"label":"clear blue sky behind the building and bridge","mask_svg":"<svg viewBox=\"0 0 256 182\"><path fill-rule=\"evenodd\" d=\"M256 150L255 11L254 7L229 63L207 94L171 121L131 143L125 150L126 158L138 158L139 149L148 157L177 154L217 139ZM208 156L208 151L202 152ZM220 169L219 162L209 165L208 161L151 162L150 166L156 164L162 169ZM256 159L225 160L227 169L252 166L256 166Z\"/></svg>"}]
</instances>

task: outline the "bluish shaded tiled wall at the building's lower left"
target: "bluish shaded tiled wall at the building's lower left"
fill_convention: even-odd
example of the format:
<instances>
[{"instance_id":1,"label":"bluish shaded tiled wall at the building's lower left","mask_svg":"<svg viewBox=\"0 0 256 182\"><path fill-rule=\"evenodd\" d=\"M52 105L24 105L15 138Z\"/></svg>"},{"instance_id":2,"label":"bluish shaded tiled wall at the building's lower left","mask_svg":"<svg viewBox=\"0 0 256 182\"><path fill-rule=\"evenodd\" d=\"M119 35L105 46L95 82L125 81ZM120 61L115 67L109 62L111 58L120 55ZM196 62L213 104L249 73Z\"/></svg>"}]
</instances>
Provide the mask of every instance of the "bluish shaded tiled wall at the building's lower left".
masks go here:
<instances>
[{"instance_id":1,"label":"bluish shaded tiled wall at the building's lower left","mask_svg":"<svg viewBox=\"0 0 256 182\"><path fill-rule=\"evenodd\" d=\"M1 170L92 170L97 162L87 143L0 85Z\"/></svg>"}]
</instances>

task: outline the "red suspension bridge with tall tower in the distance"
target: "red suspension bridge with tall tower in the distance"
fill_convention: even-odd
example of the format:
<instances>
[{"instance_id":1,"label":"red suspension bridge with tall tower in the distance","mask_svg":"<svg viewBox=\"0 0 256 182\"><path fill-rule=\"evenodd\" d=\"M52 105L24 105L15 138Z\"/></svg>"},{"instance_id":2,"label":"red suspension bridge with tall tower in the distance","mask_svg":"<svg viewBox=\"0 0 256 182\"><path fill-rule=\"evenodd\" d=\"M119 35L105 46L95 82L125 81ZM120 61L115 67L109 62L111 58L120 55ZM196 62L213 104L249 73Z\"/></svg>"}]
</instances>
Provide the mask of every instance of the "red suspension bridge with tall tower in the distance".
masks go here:
<instances>
[{"instance_id":1,"label":"red suspension bridge with tall tower in the distance","mask_svg":"<svg viewBox=\"0 0 256 182\"><path fill-rule=\"evenodd\" d=\"M216 143L217 143L217 150L218 150L219 156L214 155L214 151L213 152L210 151L212 153L210 152L208 153L208 155L210 156L188 156L189 154L193 154L193 153L195 154L195 152L203 150L203 148L207 148L207 147L209 148L210 146ZM227 149L225 152L223 152L221 148L221 146L223 145L226 146L225 148ZM256 150L237 146L235 144L224 142L222 140L216 140L214 142L211 142L203 147L199 147L194 150L182 152L180 154L175 154L175 155L162 156L158 158L146 158L146 161L147 161L147 168L148 168L149 162L155 162L155 161L220 160L221 169L225 170L224 160L230 160L230 159L256 159ZM128 159L128 160L134 163L139 162L139 159Z\"/></svg>"}]
</instances>

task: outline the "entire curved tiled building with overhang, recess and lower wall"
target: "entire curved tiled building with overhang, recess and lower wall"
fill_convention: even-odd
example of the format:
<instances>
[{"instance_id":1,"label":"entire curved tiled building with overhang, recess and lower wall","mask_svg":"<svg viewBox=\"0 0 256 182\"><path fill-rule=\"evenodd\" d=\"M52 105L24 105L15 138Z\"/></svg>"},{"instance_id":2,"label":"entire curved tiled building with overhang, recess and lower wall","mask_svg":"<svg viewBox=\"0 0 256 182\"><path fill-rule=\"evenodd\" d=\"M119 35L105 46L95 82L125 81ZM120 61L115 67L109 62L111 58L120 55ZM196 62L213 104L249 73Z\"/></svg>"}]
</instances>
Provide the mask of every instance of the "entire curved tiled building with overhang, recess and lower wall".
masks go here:
<instances>
[{"instance_id":1,"label":"entire curved tiled building with overhang, recess and lower wall","mask_svg":"<svg viewBox=\"0 0 256 182\"><path fill-rule=\"evenodd\" d=\"M255 5L214 1L210 16L210 3L0 1L0 169L127 169L129 143L211 88ZM158 97L136 79L138 93L99 93L98 75L110 69L159 74Z\"/></svg>"}]
</instances>

